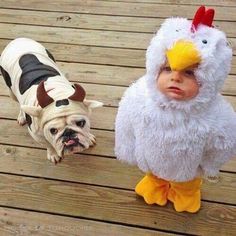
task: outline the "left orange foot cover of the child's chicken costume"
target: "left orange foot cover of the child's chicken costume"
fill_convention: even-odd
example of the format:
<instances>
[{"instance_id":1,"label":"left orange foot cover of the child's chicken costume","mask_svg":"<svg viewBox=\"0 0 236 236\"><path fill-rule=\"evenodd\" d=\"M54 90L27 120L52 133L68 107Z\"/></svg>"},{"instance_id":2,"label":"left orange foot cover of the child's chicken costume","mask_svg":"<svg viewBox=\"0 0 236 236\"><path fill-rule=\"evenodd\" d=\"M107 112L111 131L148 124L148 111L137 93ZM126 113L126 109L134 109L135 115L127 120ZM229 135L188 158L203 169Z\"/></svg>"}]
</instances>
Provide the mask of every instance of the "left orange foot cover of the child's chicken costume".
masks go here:
<instances>
[{"instance_id":1,"label":"left orange foot cover of the child's chicken costume","mask_svg":"<svg viewBox=\"0 0 236 236\"><path fill-rule=\"evenodd\" d=\"M135 187L135 192L142 196L147 204L164 206L167 203L169 182L147 174Z\"/></svg>"}]
</instances>

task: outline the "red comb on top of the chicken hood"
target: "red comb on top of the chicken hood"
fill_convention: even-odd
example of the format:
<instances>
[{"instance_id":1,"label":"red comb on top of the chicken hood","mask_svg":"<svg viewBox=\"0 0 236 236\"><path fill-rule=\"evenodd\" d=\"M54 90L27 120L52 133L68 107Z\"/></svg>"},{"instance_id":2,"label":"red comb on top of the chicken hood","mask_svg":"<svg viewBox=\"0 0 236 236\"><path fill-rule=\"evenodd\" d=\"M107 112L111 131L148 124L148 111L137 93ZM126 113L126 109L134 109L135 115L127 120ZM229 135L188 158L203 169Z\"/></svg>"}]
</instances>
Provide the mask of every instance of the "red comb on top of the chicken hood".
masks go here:
<instances>
[{"instance_id":1,"label":"red comb on top of the chicken hood","mask_svg":"<svg viewBox=\"0 0 236 236\"><path fill-rule=\"evenodd\" d=\"M206 10L205 6L199 7L192 21L191 31L195 32L199 24L213 27L212 22L213 22L214 14L215 14L214 9Z\"/></svg>"}]
</instances>

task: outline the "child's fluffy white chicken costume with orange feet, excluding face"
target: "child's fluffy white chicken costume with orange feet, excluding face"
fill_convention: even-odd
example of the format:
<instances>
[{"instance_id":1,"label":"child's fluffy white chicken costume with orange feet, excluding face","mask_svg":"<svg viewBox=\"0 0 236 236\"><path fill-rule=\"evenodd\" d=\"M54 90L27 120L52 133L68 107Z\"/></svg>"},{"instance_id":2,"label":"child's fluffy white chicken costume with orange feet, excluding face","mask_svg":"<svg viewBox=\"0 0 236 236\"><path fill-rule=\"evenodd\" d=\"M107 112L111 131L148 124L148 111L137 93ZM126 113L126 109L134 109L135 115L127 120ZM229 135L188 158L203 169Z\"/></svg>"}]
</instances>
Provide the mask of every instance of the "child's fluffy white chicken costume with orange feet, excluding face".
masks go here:
<instances>
[{"instance_id":1,"label":"child's fluffy white chicken costume with orange feet, excluding face","mask_svg":"<svg viewBox=\"0 0 236 236\"><path fill-rule=\"evenodd\" d=\"M147 175L136 193L148 204L173 202L178 212L200 208L202 176L217 176L236 154L236 113L220 95L232 50L212 27L214 10L202 6L193 21L167 19L146 53L146 74L125 92L116 117L115 153ZM157 88L161 67L198 65L197 95L170 99Z\"/></svg>"}]
</instances>

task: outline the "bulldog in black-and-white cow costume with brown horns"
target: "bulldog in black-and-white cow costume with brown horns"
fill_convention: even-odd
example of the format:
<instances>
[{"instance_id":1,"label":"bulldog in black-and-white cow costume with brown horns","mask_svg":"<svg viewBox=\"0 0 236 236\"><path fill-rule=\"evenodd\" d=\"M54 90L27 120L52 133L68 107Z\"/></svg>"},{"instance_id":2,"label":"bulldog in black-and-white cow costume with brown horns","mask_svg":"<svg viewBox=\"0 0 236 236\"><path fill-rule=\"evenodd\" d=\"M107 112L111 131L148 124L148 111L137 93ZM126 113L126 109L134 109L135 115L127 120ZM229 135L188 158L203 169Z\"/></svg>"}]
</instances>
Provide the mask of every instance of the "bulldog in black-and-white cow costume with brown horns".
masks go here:
<instances>
[{"instance_id":1,"label":"bulldog in black-and-white cow costume with brown horns","mask_svg":"<svg viewBox=\"0 0 236 236\"><path fill-rule=\"evenodd\" d=\"M28 38L11 41L1 54L0 69L10 96L20 104L18 123L27 123L50 161L96 143L90 114L102 103L85 99L85 90L65 78L44 46Z\"/></svg>"}]
</instances>

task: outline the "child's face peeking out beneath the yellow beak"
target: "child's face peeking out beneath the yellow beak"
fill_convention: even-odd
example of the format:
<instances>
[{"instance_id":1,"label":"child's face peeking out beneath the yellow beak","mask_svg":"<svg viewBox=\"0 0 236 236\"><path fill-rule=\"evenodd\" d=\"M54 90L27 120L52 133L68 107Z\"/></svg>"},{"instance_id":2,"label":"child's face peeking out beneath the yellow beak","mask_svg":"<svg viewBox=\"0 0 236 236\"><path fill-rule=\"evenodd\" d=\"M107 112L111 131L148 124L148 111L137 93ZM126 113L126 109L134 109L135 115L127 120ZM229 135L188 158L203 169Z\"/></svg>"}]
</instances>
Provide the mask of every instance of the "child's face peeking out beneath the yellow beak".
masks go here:
<instances>
[{"instance_id":1,"label":"child's face peeking out beneath the yellow beak","mask_svg":"<svg viewBox=\"0 0 236 236\"><path fill-rule=\"evenodd\" d=\"M195 66L181 71L172 71L166 63L157 77L157 88L167 97L186 101L197 96L200 85L194 75Z\"/></svg>"}]
</instances>

